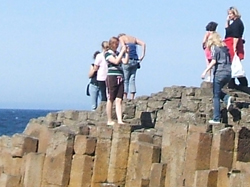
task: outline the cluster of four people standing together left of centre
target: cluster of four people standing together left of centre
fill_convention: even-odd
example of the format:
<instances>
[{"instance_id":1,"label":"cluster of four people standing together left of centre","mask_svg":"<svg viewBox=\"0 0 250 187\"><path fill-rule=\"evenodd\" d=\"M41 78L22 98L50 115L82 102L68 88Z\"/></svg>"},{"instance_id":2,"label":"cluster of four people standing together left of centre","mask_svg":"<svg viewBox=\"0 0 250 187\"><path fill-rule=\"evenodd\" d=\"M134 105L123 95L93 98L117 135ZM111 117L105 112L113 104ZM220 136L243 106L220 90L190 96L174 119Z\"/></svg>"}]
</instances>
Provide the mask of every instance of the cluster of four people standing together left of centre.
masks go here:
<instances>
[{"instance_id":1,"label":"cluster of four people standing together left of centre","mask_svg":"<svg viewBox=\"0 0 250 187\"><path fill-rule=\"evenodd\" d=\"M120 45L120 51L118 47ZM137 45L141 46L142 54L138 56ZM113 125L112 108L115 102L117 122L122 121L122 100L135 98L136 71L140 68L146 51L146 44L126 34L119 34L112 37L109 41L102 42L102 52L94 53L94 63L91 64L89 71L89 90L92 101L92 110L98 106L98 98L106 101L107 125Z\"/></svg>"}]
</instances>

